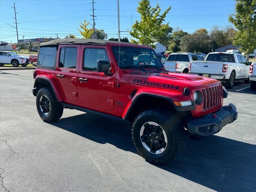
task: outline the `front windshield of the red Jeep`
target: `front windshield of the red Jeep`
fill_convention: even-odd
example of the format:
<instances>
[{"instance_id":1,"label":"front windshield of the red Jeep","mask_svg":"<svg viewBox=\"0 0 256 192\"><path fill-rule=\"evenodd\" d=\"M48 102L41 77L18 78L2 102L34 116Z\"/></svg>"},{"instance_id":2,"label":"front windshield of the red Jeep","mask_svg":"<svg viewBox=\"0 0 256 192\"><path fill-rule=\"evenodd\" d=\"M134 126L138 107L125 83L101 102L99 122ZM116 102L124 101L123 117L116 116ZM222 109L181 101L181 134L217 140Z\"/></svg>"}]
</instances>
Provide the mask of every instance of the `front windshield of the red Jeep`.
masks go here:
<instances>
[{"instance_id":1,"label":"front windshield of the red Jeep","mask_svg":"<svg viewBox=\"0 0 256 192\"><path fill-rule=\"evenodd\" d=\"M139 47L120 47L120 58L119 58L119 46L112 46L116 62L121 69L124 68L138 68L148 67L152 68L163 68L163 64L152 49L139 48Z\"/></svg>"}]
</instances>

